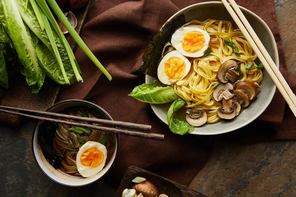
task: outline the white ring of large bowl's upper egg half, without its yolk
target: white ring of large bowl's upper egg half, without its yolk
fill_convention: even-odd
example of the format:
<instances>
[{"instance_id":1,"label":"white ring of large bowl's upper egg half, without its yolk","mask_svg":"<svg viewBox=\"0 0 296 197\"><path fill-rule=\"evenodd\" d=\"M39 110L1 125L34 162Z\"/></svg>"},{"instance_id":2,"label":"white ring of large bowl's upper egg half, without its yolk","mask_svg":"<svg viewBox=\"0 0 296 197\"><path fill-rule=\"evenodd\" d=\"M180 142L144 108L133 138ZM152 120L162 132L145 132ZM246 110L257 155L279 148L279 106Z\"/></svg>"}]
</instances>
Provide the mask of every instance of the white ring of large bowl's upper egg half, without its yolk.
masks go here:
<instances>
[{"instance_id":1,"label":"white ring of large bowl's upper egg half, without its yolk","mask_svg":"<svg viewBox=\"0 0 296 197\"><path fill-rule=\"evenodd\" d=\"M204 42L204 47L202 49L200 49L199 51L197 51L195 53L188 53L183 49L182 44L183 44L185 33L192 32L192 31L202 33L204 35L205 42ZM207 33L204 30L201 30L199 28L196 28L196 27L179 28L178 30L176 30L175 33L173 33L172 38L171 38L171 43L172 43L173 47L177 51L182 53L184 56L191 57L191 58L198 58L198 57L203 56L205 54L205 51L209 48L209 42L210 42L209 33Z\"/></svg>"}]
</instances>

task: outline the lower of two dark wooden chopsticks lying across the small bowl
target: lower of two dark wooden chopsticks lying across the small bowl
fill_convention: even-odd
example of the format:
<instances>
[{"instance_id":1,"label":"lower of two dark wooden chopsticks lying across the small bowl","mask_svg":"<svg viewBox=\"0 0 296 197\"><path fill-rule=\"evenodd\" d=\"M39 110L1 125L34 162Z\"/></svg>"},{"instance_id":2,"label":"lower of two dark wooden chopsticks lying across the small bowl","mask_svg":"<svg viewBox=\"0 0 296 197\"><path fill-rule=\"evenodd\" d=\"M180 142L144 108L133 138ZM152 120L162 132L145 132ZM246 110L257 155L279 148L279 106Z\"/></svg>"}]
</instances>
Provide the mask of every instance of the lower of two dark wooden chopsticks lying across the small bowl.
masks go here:
<instances>
[{"instance_id":1,"label":"lower of two dark wooden chopsticks lying across the small bowl","mask_svg":"<svg viewBox=\"0 0 296 197\"><path fill-rule=\"evenodd\" d=\"M148 139L155 139L155 140L161 140L161 141L164 140L164 135L158 134L158 133L130 131L130 130L125 130L125 129L113 128L113 127L82 124L82 123L77 123L77 122L70 122L70 121L65 121L65 120L46 118L46 117L42 117L42 116L23 114L20 112L9 111L9 110L5 110L5 109L0 109L0 112L9 113L9 114L18 115L18 116L27 117L27 118L32 118L32 119L39 120L39 121L48 121L48 122L53 122L53 123L58 123L58 124L71 125L74 127L82 127L82 128L92 129L92 130L101 130L101 131L113 132L116 134L124 134L124 135L130 135L130 136L135 136L135 137L144 137L144 138L148 138Z\"/></svg>"}]
</instances>

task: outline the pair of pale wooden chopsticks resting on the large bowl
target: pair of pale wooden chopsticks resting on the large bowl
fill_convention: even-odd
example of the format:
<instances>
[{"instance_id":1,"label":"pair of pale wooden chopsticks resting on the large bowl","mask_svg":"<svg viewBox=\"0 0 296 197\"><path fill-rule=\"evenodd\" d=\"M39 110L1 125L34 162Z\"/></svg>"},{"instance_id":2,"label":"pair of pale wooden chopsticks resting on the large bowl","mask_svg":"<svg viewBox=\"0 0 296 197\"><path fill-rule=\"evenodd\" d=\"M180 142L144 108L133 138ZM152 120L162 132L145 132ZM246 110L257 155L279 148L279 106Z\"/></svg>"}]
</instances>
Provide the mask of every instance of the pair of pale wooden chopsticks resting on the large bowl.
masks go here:
<instances>
[{"instance_id":1,"label":"pair of pale wooden chopsticks resting on the large bowl","mask_svg":"<svg viewBox=\"0 0 296 197\"><path fill-rule=\"evenodd\" d=\"M232 19L240 29L240 31L244 34L248 42L250 43L251 47L257 54L259 60L261 61L262 65L264 66L265 70L268 72L270 78L287 101L289 107L291 108L292 112L296 116L296 96L289 87L287 81L284 79L283 75L281 74L280 70L272 61L270 55L264 48L262 42L260 41L257 34L254 32L253 28L251 27L250 23L236 4L234 0L222 0L222 3L226 7L227 11L231 15ZM233 10L233 9L234 10Z\"/></svg>"}]
</instances>

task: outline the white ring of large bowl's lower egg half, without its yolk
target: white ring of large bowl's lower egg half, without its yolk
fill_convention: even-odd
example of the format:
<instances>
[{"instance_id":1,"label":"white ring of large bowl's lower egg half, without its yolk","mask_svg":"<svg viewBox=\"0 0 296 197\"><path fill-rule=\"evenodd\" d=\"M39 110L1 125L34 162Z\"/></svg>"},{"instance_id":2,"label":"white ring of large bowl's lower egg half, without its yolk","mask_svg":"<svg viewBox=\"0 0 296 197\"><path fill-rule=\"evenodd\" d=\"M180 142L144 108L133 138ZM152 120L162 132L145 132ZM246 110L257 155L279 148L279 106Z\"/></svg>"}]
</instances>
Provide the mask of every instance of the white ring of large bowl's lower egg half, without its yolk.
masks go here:
<instances>
[{"instance_id":1,"label":"white ring of large bowl's lower egg half, without its yolk","mask_svg":"<svg viewBox=\"0 0 296 197\"><path fill-rule=\"evenodd\" d=\"M165 70L164 63L172 57L178 57L185 62L186 70L185 70L184 75L180 79L171 79L169 76L166 75L166 73L164 71ZM182 80L188 74L190 67L191 67L191 63L180 52L178 52L176 50L170 51L160 61L158 68L157 68L157 77L161 83L166 84L166 85L172 85L172 84L176 83L177 81Z\"/></svg>"}]
</instances>

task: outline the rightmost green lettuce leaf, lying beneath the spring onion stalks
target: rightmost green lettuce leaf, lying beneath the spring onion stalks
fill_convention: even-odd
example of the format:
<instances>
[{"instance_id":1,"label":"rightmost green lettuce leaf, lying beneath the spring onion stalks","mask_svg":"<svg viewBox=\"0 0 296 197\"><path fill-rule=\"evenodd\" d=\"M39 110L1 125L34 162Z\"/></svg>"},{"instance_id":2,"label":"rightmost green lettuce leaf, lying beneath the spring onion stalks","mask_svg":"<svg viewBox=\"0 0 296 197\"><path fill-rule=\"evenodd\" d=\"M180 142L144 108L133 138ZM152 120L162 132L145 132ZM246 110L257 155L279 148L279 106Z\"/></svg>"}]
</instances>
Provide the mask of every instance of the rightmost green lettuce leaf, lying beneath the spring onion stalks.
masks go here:
<instances>
[{"instance_id":1,"label":"rightmost green lettuce leaf, lying beneath the spring onion stalks","mask_svg":"<svg viewBox=\"0 0 296 197\"><path fill-rule=\"evenodd\" d=\"M64 80L62 70L60 69L60 66L55 58L53 48L49 41L48 35L45 30L43 31L41 30L36 14L30 2L28 2L27 10L26 10L26 1L27 0L18 0L17 6L24 22L28 25L31 31L35 33L43 43L43 45L41 43L38 43L37 45L37 50L39 50L39 51L36 51L37 59L39 61L40 60L42 61L41 66L49 78L51 78L52 80L54 80L59 84L65 85L66 82ZM76 81L76 77L75 77L74 70L71 65L66 47L63 44L62 40L60 39L58 33L54 30L53 26L51 24L50 26L51 26L53 36L55 38L58 51L62 59L63 66L65 68L67 77L70 81L70 84L73 84ZM44 54L41 54L40 50L43 51ZM79 71L80 68L78 64L76 64L76 66Z\"/></svg>"}]
</instances>

